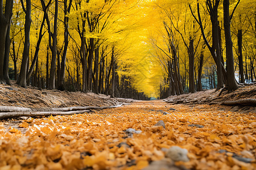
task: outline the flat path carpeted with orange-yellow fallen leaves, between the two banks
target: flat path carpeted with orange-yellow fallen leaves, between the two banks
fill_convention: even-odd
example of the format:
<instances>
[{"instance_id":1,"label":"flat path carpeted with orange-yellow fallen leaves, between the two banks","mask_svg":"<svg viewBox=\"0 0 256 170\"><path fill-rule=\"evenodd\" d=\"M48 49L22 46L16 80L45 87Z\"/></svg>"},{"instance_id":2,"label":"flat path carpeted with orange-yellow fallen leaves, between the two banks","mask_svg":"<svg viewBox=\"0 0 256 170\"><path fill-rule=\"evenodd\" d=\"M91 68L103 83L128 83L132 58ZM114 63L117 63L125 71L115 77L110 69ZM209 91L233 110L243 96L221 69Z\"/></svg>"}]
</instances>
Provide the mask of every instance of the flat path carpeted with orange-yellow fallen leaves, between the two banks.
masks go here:
<instances>
[{"instance_id":1,"label":"flat path carpeted with orange-yellow fallen leaves, between the two banks","mask_svg":"<svg viewBox=\"0 0 256 170\"><path fill-rule=\"evenodd\" d=\"M165 129L154 126L160 120ZM253 113L156 100L21 121L25 134L15 128L6 131L7 122L0 122L0 169L142 169L163 160L171 146L187 149L189 162L174 165L165 159L159 166L256 168ZM127 133L129 128L135 133Z\"/></svg>"}]
</instances>

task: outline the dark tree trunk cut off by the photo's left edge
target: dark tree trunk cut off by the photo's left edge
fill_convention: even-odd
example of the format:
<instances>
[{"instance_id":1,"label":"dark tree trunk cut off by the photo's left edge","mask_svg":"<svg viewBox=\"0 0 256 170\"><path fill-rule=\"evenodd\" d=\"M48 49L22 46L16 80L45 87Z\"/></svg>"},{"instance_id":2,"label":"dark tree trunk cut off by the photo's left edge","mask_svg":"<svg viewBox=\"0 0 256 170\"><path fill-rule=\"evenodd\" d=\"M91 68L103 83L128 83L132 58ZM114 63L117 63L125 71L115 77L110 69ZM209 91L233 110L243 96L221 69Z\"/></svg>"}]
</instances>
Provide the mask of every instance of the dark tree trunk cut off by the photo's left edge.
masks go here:
<instances>
[{"instance_id":1,"label":"dark tree trunk cut off by the photo's left edge","mask_svg":"<svg viewBox=\"0 0 256 170\"><path fill-rule=\"evenodd\" d=\"M6 37L9 37L9 35L7 35L7 32L8 27L10 27L12 15L13 1L6 1L5 10L3 11L3 1L0 0L0 84L6 84L6 79L4 75L4 70L6 69L5 61L9 61L9 59L5 59L5 57L7 57L6 53L9 53L9 51L6 50Z\"/></svg>"}]
</instances>

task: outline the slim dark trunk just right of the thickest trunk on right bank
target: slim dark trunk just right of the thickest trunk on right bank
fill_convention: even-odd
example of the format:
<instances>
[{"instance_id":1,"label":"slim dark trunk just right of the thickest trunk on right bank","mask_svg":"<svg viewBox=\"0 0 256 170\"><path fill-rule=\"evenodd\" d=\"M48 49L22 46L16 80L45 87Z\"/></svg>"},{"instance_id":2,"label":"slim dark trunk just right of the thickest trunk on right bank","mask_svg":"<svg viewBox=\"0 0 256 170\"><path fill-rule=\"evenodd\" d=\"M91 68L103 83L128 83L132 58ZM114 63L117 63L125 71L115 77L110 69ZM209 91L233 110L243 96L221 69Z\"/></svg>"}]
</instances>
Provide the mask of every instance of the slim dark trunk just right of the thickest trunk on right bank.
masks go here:
<instances>
[{"instance_id":1,"label":"slim dark trunk just right of the thickest trunk on right bank","mask_svg":"<svg viewBox=\"0 0 256 170\"><path fill-rule=\"evenodd\" d=\"M239 63L239 74L240 83L245 83L243 76L243 55L242 55L242 29L238 29L238 63Z\"/></svg>"}]
</instances>

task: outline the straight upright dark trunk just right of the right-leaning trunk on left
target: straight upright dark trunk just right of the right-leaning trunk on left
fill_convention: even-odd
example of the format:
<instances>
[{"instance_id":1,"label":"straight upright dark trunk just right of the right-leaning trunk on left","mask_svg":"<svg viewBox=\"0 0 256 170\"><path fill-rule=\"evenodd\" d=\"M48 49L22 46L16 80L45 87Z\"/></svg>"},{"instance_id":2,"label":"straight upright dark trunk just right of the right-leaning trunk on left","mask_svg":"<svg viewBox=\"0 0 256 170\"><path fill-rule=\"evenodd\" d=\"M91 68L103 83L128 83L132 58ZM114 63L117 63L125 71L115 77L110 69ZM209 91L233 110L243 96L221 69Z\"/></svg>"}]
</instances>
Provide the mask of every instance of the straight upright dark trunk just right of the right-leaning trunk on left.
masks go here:
<instances>
[{"instance_id":1,"label":"straight upright dark trunk just right of the right-leaning trunk on left","mask_svg":"<svg viewBox=\"0 0 256 170\"><path fill-rule=\"evenodd\" d=\"M52 61L49 78L49 89L55 89L55 73L56 73L56 56L57 56L57 17L58 17L58 0L55 0L55 14L52 34ZM50 29L50 28L48 28ZM49 39L51 37L49 36Z\"/></svg>"}]
</instances>

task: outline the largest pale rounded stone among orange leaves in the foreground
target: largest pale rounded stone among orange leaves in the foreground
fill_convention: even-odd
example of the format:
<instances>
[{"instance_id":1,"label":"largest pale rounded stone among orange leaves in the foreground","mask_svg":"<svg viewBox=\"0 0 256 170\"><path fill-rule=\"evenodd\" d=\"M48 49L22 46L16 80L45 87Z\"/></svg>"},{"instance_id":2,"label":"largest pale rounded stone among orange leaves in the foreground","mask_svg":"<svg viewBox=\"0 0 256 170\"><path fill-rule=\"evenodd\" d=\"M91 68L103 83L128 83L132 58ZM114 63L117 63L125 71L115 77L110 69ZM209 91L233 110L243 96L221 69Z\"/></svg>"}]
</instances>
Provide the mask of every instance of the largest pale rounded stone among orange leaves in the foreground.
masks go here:
<instances>
[{"instance_id":1,"label":"largest pale rounded stone among orange leaves in the foreground","mask_svg":"<svg viewBox=\"0 0 256 170\"><path fill-rule=\"evenodd\" d=\"M174 162L183 161L188 162L188 150L180 148L179 146L172 146L168 149L166 157L172 159Z\"/></svg>"}]
</instances>

